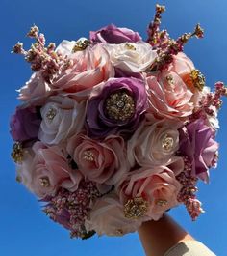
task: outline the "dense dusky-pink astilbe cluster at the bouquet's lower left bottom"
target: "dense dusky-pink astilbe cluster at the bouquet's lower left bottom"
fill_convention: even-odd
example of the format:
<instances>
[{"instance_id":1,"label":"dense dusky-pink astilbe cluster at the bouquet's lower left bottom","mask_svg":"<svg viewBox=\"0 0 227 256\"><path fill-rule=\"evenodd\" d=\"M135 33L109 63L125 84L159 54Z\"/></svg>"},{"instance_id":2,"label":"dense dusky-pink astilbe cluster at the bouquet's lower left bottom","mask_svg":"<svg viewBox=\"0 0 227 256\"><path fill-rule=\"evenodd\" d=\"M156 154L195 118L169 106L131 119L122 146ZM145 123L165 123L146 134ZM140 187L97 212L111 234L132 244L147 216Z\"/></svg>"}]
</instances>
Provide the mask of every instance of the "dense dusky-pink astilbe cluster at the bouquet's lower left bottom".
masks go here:
<instances>
[{"instance_id":1,"label":"dense dusky-pink astilbe cluster at the bouquet's lower left bottom","mask_svg":"<svg viewBox=\"0 0 227 256\"><path fill-rule=\"evenodd\" d=\"M82 181L78 189L70 192L61 188L55 196L44 198L47 202L43 212L53 221L62 224L71 231L71 238L86 239L93 233L85 229L85 220L91 210L92 203L100 196L93 182Z\"/></svg>"}]
</instances>

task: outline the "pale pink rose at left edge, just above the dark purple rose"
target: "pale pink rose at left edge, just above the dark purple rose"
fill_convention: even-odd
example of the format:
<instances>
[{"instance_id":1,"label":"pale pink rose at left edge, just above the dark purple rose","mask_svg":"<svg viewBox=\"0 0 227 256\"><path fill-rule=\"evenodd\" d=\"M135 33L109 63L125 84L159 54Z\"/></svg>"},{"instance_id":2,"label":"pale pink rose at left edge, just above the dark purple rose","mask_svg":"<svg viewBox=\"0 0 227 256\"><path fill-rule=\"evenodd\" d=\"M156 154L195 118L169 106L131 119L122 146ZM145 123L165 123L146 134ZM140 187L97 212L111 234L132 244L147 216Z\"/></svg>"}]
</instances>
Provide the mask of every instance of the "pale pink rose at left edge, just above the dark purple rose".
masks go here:
<instances>
[{"instance_id":1,"label":"pale pink rose at left edge, just above the dark purple rose","mask_svg":"<svg viewBox=\"0 0 227 256\"><path fill-rule=\"evenodd\" d=\"M30 101L33 105L41 105L50 93L51 89L48 83L45 82L37 72L31 76L25 86L19 89L18 99L22 101Z\"/></svg>"}]
</instances>

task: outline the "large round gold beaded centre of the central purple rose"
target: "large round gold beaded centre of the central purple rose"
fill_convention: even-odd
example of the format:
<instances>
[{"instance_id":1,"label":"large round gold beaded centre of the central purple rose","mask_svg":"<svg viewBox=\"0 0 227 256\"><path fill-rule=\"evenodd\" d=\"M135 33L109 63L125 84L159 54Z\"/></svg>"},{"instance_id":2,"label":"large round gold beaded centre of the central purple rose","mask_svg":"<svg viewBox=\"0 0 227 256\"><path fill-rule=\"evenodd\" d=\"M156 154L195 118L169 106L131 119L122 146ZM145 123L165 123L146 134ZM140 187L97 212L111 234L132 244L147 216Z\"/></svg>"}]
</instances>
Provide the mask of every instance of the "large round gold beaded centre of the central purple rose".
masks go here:
<instances>
[{"instance_id":1,"label":"large round gold beaded centre of the central purple rose","mask_svg":"<svg viewBox=\"0 0 227 256\"><path fill-rule=\"evenodd\" d=\"M111 94L106 100L106 112L111 119L116 121L130 119L135 113L133 97L124 91Z\"/></svg>"}]
</instances>

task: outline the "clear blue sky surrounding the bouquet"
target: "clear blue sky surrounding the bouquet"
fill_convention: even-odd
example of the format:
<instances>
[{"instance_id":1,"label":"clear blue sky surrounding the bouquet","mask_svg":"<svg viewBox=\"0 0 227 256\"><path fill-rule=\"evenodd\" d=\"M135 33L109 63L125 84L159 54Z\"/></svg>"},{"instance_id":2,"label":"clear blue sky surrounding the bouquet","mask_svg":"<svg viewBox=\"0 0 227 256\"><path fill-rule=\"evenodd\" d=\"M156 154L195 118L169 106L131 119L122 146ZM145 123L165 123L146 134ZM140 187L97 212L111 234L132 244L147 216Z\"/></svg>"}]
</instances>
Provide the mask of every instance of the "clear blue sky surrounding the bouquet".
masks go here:
<instances>
[{"instance_id":1,"label":"clear blue sky surrounding the bouquet","mask_svg":"<svg viewBox=\"0 0 227 256\"><path fill-rule=\"evenodd\" d=\"M146 26L153 17L155 1L34 1L1 0L0 2L0 255L2 256L139 256L144 255L137 234L123 238L93 237L88 241L71 240L68 232L51 222L39 210L38 201L22 185L15 182L14 165L10 158L13 141L9 135L9 119L18 103L16 92L30 77L29 66L19 56L11 54L14 43L30 45L24 35L34 23L45 33L47 42L76 40L88 36L109 23L125 26L146 37ZM204 40L192 40L186 53L213 86L217 80L227 82L226 0L174 0L165 4L163 27L177 37L191 31L197 22L205 28ZM218 4L217 4L218 3ZM211 171L211 184L199 184L199 199L206 213L191 222L184 207L170 214L196 239L205 242L218 256L226 255L227 206L227 100L219 115L221 129L218 168Z\"/></svg>"}]
</instances>

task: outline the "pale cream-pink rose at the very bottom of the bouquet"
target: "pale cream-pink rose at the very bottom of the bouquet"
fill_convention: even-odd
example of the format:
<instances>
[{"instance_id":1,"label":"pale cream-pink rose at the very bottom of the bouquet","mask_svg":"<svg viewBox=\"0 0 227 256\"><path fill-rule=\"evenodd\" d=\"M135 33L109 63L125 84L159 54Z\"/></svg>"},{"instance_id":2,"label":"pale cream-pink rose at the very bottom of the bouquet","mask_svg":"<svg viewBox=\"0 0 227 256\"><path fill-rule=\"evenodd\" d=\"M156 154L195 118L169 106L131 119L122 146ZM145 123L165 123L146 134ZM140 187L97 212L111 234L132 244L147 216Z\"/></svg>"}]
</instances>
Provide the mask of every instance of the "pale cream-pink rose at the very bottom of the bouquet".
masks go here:
<instances>
[{"instance_id":1,"label":"pale cream-pink rose at the very bottom of the bouquet","mask_svg":"<svg viewBox=\"0 0 227 256\"><path fill-rule=\"evenodd\" d=\"M137 231L142 221L147 220L149 217L142 217L137 220L126 218L124 206L113 192L97 199L85 226L88 231L95 230L99 236L123 236Z\"/></svg>"}]
</instances>

